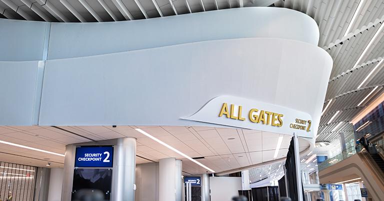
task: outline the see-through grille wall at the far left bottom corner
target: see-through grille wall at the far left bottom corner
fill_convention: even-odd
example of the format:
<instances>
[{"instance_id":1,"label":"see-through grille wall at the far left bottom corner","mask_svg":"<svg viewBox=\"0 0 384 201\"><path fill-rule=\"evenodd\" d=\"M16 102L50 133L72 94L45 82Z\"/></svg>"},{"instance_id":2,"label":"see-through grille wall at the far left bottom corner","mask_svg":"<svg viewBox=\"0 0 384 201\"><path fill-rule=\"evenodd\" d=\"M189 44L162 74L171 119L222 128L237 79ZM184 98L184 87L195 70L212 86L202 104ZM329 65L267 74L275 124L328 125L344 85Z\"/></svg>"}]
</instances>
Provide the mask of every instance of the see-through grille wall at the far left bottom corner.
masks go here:
<instances>
[{"instance_id":1,"label":"see-through grille wall at the far left bottom corner","mask_svg":"<svg viewBox=\"0 0 384 201\"><path fill-rule=\"evenodd\" d=\"M0 162L0 200L33 201L37 168Z\"/></svg>"}]
</instances>

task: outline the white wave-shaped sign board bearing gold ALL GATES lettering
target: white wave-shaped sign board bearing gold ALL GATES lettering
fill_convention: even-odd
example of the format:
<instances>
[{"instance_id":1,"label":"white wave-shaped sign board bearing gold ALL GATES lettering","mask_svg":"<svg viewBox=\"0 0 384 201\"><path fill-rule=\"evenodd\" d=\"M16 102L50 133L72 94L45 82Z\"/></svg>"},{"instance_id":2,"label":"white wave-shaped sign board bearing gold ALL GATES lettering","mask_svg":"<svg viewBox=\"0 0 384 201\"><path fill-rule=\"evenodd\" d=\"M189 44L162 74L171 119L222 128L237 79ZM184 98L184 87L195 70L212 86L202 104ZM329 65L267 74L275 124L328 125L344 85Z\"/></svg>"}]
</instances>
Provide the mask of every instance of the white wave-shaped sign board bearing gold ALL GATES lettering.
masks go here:
<instances>
[{"instance_id":1,"label":"white wave-shaped sign board bearing gold ALL GATES lettering","mask_svg":"<svg viewBox=\"0 0 384 201\"><path fill-rule=\"evenodd\" d=\"M181 119L313 138L312 118L294 109L234 96L218 96Z\"/></svg>"}]
</instances>

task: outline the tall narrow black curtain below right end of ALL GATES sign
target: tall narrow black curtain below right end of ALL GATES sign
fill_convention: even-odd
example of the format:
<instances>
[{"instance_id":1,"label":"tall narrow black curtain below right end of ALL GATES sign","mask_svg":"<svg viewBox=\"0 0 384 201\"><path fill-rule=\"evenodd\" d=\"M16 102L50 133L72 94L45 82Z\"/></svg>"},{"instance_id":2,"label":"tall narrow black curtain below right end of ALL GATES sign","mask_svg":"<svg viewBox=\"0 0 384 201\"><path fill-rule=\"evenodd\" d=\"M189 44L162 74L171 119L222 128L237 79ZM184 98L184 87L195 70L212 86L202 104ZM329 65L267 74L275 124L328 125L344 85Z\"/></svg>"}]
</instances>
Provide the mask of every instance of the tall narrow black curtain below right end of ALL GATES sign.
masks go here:
<instances>
[{"instance_id":1,"label":"tall narrow black curtain below right end of ALL GATES sign","mask_svg":"<svg viewBox=\"0 0 384 201\"><path fill-rule=\"evenodd\" d=\"M294 145L293 137L290 140L288 154L286 155L285 169L286 169L286 183L288 187L288 195L292 201L297 201L297 180L296 180L296 166L294 163ZM300 167L299 167L300 168ZM285 185L285 184L284 184ZM279 182L280 186L280 182ZM302 186L301 186L302 187ZM281 188L280 188L281 191ZM285 188L284 188L285 191ZM305 201L304 190L301 189L302 199Z\"/></svg>"}]
</instances>

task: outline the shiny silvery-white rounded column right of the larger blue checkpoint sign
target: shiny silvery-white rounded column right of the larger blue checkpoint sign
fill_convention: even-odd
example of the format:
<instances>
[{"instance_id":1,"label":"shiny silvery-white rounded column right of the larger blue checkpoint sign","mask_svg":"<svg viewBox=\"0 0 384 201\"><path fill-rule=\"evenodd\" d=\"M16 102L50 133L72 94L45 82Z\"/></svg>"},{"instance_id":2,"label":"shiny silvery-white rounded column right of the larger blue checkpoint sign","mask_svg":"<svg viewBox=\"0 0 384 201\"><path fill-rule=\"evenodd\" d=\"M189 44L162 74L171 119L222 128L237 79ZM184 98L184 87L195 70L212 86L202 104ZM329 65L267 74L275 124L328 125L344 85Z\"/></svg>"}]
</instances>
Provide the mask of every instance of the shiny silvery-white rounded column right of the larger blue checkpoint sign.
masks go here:
<instances>
[{"instance_id":1,"label":"shiny silvery-white rounded column right of the larger blue checkpoint sign","mask_svg":"<svg viewBox=\"0 0 384 201\"><path fill-rule=\"evenodd\" d=\"M111 200L134 201L136 139L117 139L113 161Z\"/></svg>"}]
</instances>

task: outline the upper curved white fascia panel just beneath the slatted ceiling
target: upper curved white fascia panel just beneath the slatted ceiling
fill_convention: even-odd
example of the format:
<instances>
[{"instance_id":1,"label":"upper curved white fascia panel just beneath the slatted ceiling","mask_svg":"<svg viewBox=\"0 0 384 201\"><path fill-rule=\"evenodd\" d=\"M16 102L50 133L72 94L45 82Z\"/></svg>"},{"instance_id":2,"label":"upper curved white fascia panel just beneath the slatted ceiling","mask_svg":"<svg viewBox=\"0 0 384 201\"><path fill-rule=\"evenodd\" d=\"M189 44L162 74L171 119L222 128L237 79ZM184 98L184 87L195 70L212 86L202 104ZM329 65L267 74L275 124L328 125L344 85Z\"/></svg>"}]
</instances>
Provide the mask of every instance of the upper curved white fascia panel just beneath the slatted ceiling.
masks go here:
<instances>
[{"instance_id":1,"label":"upper curved white fascia panel just beneath the slatted ceiling","mask_svg":"<svg viewBox=\"0 0 384 201\"><path fill-rule=\"evenodd\" d=\"M316 22L286 8L244 7L102 23L52 23L48 59L90 56L206 40L270 37L317 45Z\"/></svg>"}]
</instances>

